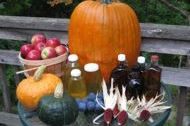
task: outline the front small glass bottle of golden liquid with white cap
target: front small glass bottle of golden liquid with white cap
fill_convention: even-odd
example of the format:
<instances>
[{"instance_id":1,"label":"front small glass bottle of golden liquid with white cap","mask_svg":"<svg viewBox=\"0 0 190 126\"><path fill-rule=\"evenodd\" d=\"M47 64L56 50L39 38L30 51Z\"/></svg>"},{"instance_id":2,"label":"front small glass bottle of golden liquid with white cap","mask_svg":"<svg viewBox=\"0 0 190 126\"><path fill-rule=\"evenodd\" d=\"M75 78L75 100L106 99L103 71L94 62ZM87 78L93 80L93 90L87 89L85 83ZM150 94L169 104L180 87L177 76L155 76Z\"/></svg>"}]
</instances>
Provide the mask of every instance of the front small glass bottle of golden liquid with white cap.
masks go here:
<instances>
[{"instance_id":1,"label":"front small glass bottle of golden liquid with white cap","mask_svg":"<svg viewBox=\"0 0 190 126\"><path fill-rule=\"evenodd\" d=\"M87 96L86 84L79 69L71 70L68 83L68 93L74 98L82 99Z\"/></svg>"}]
</instances>

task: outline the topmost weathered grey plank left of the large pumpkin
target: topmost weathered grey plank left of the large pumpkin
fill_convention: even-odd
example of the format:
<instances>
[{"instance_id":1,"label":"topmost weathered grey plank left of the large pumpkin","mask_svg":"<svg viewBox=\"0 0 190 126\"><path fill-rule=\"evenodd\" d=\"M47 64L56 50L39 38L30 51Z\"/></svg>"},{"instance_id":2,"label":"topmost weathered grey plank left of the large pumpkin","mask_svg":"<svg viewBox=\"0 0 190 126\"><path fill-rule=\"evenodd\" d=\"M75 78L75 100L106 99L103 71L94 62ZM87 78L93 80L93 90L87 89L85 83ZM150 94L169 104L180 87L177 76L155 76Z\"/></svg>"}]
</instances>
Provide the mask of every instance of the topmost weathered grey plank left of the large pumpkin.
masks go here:
<instances>
[{"instance_id":1,"label":"topmost weathered grey plank left of the large pumpkin","mask_svg":"<svg viewBox=\"0 0 190 126\"><path fill-rule=\"evenodd\" d=\"M0 27L35 30L67 31L69 19L0 16Z\"/></svg>"}]
</instances>

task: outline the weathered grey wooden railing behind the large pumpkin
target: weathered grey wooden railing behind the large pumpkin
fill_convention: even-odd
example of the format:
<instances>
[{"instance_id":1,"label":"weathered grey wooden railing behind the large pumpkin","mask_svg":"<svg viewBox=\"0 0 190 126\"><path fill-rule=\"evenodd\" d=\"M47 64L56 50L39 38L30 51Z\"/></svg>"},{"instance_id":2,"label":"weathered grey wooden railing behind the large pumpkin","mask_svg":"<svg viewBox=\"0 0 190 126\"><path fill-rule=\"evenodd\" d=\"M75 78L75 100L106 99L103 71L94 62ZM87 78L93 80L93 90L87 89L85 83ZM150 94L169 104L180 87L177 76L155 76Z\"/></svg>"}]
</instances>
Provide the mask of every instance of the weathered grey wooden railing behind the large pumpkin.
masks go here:
<instances>
[{"instance_id":1,"label":"weathered grey wooden railing behind the large pumpkin","mask_svg":"<svg viewBox=\"0 0 190 126\"><path fill-rule=\"evenodd\" d=\"M57 36L67 43L68 24L68 19L0 16L0 39L27 41L34 33L43 32L48 37ZM190 26L142 23L141 32L141 51L190 56ZM17 56L17 51L0 50L0 80L7 112L11 111L11 102L5 79L5 64L13 65L18 71L21 64ZM162 81L180 87L176 125L181 126L187 88L190 87L190 69L180 68L180 65L179 68L163 67ZM17 75L15 82L19 82Z\"/></svg>"}]
</instances>

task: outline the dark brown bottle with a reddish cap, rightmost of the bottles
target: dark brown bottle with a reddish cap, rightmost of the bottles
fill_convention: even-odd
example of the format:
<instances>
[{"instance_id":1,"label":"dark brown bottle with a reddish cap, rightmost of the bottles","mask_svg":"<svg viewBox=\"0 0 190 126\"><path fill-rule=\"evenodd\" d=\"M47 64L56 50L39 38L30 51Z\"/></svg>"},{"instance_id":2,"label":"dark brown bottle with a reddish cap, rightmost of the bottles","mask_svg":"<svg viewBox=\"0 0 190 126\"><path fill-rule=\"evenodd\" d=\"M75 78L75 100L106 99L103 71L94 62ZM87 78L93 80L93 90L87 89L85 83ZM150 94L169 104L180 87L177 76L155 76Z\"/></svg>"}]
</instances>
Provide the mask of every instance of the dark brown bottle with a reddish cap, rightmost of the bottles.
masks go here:
<instances>
[{"instance_id":1,"label":"dark brown bottle with a reddish cap, rightmost of the bottles","mask_svg":"<svg viewBox=\"0 0 190 126\"><path fill-rule=\"evenodd\" d=\"M158 64L159 56L152 55L151 56L151 64L145 71L145 96L147 100L155 97L160 93L161 87L161 72L162 69Z\"/></svg>"}]
</instances>

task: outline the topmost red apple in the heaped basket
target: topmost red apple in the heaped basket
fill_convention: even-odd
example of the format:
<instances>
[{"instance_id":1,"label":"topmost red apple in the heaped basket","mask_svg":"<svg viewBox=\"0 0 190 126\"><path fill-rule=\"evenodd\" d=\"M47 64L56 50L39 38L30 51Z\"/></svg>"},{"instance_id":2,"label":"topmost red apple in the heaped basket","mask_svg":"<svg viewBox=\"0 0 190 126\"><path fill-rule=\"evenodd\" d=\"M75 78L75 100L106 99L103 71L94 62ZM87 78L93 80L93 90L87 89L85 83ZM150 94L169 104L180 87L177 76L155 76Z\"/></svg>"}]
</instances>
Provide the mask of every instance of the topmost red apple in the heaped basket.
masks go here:
<instances>
[{"instance_id":1,"label":"topmost red apple in the heaped basket","mask_svg":"<svg viewBox=\"0 0 190 126\"><path fill-rule=\"evenodd\" d=\"M37 43L40 43L40 42L46 43L46 37L44 34L38 33L32 36L31 43L33 45L36 45Z\"/></svg>"}]
</instances>

